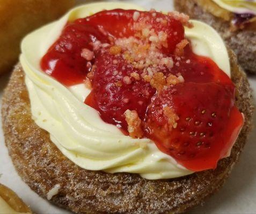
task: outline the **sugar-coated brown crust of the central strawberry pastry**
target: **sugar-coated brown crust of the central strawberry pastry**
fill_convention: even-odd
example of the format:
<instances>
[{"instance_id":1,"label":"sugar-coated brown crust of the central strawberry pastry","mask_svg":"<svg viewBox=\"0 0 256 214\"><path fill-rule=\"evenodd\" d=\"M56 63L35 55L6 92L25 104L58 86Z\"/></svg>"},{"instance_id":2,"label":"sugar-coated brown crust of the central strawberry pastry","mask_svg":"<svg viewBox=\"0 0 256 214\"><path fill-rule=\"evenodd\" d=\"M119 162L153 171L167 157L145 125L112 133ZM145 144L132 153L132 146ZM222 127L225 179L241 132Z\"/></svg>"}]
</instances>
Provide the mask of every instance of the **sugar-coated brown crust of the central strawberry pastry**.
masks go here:
<instances>
[{"instance_id":1,"label":"sugar-coated brown crust of the central strawberry pastry","mask_svg":"<svg viewBox=\"0 0 256 214\"><path fill-rule=\"evenodd\" d=\"M230 52L232 80L237 86L237 106L245 125L229 158L208 170L170 180L146 180L137 174L87 171L61 154L49 134L31 117L24 72L18 65L5 90L2 106L5 142L20 177L40 196L55 185L50 201L79 213L180 213L216 192L237 162L251 129L251 90L244 72Z\"/></svg>"}]
</instances>

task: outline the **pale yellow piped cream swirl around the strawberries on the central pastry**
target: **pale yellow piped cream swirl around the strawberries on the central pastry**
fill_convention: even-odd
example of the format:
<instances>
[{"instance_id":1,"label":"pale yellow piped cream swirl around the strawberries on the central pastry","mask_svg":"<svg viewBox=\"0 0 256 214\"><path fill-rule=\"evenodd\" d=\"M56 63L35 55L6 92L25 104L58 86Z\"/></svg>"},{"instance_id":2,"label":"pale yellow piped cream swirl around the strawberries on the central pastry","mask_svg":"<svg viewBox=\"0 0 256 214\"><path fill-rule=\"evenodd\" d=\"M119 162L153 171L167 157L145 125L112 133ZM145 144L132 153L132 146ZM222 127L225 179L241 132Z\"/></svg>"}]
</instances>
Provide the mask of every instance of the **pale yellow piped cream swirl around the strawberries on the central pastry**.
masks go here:
<instances>
[{"instance_id":1,"label":"pale yellow piped cream swirl around the strawberries on the central pastry","mask_svg":"<svg viewBox=\"0 0 256 214\"><path fill-rule=\"evenodd\" d=\"M40 59L60 36L67 21L102 10L144 9L126 3L94 3L76 7L62 19L26 36L20 62L26 73L35 123L50 133L50 139L72 162L87 170L138 173L146 179L168 179L193 173L161 152L149 139L132 139L101 120L98 112L84 104L90 93L84 84L65 87L40 68ZM199 21L186 28L193 50L212 58L230 75L228 52L216 31Z\"/></svg>"}]
</instances>

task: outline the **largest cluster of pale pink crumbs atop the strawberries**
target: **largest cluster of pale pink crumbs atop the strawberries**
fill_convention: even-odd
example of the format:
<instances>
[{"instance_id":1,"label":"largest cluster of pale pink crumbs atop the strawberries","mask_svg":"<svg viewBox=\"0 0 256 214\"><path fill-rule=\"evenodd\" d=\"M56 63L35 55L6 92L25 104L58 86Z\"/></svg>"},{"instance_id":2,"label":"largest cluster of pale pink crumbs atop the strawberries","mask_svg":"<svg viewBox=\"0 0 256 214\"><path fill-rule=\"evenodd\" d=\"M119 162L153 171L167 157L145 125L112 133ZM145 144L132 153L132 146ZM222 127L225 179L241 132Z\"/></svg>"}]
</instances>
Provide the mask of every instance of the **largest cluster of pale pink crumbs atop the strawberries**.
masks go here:
<instances>
[{"instance_id":1,"label":"largest cluster of pale pink crumbs atop the strawberries","mask_svg":"<svg viewBox=\"0 0 256 214\"><path fill-rule=\"evenodd\" d=\"M155 11L151 11L152 16L156 16ZM112 55L121 55L133 67L142 70L145 74L148 71L153 73L164 71L173 67L172 57L164 56L161 49L168 48L167 33L163 30L156 32L150 24L150 18L144 17L140 12L134 12L133 26L135 36L123 37L114 42L114 46L109 49ZM158 20L159 19L159 20ZM167 24L167 20L157 18L161 24ZM150 68L150 70L148 69ZM135 78L136 80L138 77Z\"/></svg>"}]
</instances>

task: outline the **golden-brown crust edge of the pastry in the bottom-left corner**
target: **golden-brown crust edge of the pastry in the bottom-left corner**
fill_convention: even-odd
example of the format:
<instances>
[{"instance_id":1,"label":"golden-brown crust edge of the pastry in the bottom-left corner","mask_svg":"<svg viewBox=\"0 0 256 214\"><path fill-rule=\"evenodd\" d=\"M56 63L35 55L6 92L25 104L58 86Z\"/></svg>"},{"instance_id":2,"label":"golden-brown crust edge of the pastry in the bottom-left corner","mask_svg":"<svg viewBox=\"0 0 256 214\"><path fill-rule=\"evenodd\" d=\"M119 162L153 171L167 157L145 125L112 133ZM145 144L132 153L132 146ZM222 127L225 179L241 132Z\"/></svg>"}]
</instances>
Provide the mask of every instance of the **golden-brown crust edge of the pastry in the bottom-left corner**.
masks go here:
<instances>
[{"instance_id":1,"label":"golden-brown crust edge of the pastry in the bottom-left corner","mask_svg":"<svg viewBox=\"0 0 256 214\"><path fill-rule=\"evenodd\" d=\"M0 197L16 212L32 213L31 209L8 187L0 184Z\"/></svg>"}]
</instances>

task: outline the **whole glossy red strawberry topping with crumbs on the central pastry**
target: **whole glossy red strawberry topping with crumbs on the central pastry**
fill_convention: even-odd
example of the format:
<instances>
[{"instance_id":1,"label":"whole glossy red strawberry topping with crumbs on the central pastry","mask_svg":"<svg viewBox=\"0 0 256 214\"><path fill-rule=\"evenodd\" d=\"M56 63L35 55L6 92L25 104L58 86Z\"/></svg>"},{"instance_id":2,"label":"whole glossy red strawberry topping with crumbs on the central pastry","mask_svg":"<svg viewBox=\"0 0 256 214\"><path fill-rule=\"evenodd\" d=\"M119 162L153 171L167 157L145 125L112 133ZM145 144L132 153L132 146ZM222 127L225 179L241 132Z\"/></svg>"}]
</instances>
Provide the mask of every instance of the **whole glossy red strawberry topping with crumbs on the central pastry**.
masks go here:
<instances>
[{"instance_id":1,"label":"whole glossy red strawberry topping with crumbs on the central pastry","mask_svg":"<svg viewBox=\"0 0 256 214\"><path fill-rule=\"evenodd\" d=\"M68 23L41 67L65 86L90 80L85 103L106 123L150 138L189 170L214 169L244 119L232 81L193 53L184 24L177 13L102 11Z\"/></svg>"}]
</instances>

